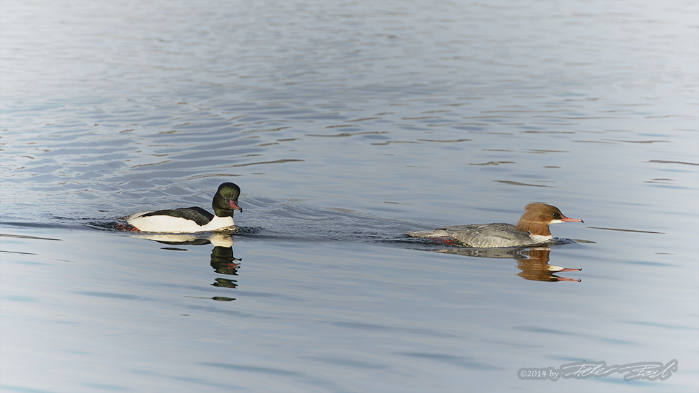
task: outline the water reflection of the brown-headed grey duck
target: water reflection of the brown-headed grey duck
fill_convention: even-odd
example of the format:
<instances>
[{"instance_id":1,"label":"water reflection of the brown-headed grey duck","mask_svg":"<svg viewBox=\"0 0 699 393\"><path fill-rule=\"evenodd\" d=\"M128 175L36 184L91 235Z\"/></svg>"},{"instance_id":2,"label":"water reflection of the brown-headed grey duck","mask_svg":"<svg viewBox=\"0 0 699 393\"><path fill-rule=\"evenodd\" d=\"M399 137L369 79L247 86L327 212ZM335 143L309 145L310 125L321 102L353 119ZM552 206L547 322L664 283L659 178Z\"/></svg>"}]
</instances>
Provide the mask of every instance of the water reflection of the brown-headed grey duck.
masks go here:
<instances>
[{"instance_id":1,"label":"water reflection of the brown-headed grey duck","mask_svg":"<svg viewBox=\"0 0 699 393\"><path fill-rule=\"evenodd\" d=\"M580 281L576 278L559 277L554 273L561 271L581 271L582 269L565 269L561 266L549 265L549 247L532 248L449 248L435 250L445 254L464 255L467 257L483 258L512 258L517 260L521 270L517 276L534 281Z\"/></svg>"}]
</instances>

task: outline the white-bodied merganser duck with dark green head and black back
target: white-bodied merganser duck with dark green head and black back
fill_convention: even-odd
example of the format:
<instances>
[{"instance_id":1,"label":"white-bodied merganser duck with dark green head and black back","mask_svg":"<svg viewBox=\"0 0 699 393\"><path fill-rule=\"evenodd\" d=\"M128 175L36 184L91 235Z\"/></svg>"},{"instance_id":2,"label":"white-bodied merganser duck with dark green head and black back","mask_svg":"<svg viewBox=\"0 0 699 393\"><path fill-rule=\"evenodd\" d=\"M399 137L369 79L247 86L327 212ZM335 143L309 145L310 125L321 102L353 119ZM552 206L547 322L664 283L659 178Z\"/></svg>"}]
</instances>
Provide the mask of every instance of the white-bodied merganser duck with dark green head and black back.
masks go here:
<instances>
[{"instance_id":1,"label":"white-bodied merganser duck with dark green head and black back","mask_svg":"<svg viewBox=\"0 0 699 393\"><path fill-rule=\"evenodd\" d=\"M238 185L223 183L211 202L215 215L199 207L151 210L129 215L127 222L144 232L216 231L233 226L233 210L243 213L243 209L238 207L239 196Z\"/></svg>"}]
</instances>

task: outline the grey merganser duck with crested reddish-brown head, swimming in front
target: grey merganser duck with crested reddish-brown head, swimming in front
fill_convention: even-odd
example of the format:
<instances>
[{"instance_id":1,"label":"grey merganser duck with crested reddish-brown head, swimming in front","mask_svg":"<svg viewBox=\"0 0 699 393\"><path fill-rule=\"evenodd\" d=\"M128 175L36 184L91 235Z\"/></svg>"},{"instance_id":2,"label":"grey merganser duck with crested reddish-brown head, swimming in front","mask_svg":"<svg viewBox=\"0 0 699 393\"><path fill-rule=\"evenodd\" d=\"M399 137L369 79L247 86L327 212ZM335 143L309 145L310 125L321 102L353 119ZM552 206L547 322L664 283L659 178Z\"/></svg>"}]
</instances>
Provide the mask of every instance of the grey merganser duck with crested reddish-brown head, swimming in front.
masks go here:
<instances>
[{"instance_id":1,"label":"grey merganser duck with crested reddish-brown head, swimming in front","mask_svg":"<svg viewBox=\"0 0 699 393\"><path fill-rule=\"evenodd\" d=\"M419 238L451 237L464 245L478 248L518 247L545 243L553 238L549 224L556 222L583 222L568 218L556 206L529 203L524 214L512 224L470 224L443 227L433 231L406 232Z\"/></svg>"}]
</instances>

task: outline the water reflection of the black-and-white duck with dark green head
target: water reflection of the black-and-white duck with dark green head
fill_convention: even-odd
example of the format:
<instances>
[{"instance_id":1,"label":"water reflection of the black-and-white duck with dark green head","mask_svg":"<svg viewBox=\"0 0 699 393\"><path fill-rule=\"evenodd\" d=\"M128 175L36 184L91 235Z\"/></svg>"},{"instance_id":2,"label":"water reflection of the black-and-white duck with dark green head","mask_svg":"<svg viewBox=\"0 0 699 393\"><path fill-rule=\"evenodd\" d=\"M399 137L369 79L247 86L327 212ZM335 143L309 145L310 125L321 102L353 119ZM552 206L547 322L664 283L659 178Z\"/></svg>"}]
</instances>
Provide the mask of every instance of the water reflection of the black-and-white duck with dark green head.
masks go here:
<instances>
[{"instance_id":1,"label":"water reflection of the black-and-white duck with dark green head","mask_svg":"<svg viewBox=\"0 0 699 393\"><path fill-rule=\"evenodd\" d=\"M167 245L205 245L214 246L211 251L211 267L216 273L238 276L239 261L243 259L233 257L233 238L224 234L134 234L135 237L145 238ZM215 287L235 288L236 280L228 278L216 278Z\"/></svg>"}]
</instances>

